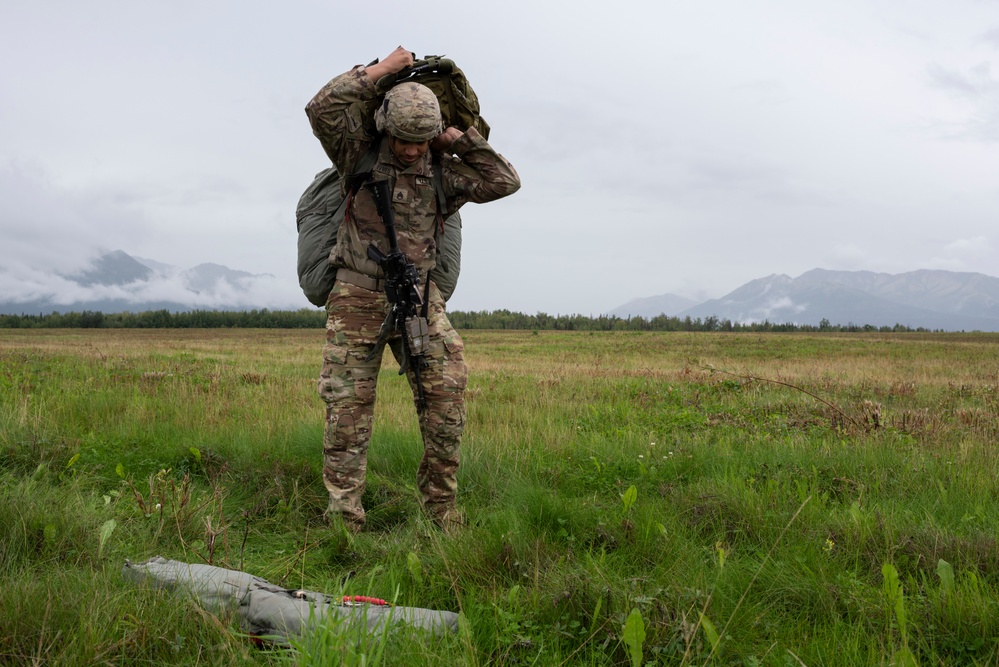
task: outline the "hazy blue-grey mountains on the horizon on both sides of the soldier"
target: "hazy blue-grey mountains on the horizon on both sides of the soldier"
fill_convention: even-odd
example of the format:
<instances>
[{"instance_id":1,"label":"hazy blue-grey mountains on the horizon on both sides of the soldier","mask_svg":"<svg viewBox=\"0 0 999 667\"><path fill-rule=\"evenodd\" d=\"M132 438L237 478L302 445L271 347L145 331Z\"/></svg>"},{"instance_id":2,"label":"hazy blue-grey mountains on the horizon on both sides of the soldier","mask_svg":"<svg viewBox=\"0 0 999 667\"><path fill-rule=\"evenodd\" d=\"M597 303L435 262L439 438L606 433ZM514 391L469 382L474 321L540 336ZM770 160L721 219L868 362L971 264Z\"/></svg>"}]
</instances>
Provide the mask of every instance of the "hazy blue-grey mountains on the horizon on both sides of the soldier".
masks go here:
<instances>
[{"instance_id":1,"label":"hazy blue-grey mountains on the horizon on both sides of the soldier","mask_svg":"<svg viewBox=\"0 0 999 667\"><path fill-rule=\"evenodd\" d=\"M122 250L101 256L82 271L46 276L44 280L35 277L14 289L17 294L0 296L0 314L307 307L304 297L296 301L287 296L287 286L279 289L269 274L219 264L179 269ZM702 303L661 294L633 299L607 314L999 331L999 278L954 271L889 274L813 269L797 278L775 274L752 280L719 299Z\"/></svg>"}]
</instances>

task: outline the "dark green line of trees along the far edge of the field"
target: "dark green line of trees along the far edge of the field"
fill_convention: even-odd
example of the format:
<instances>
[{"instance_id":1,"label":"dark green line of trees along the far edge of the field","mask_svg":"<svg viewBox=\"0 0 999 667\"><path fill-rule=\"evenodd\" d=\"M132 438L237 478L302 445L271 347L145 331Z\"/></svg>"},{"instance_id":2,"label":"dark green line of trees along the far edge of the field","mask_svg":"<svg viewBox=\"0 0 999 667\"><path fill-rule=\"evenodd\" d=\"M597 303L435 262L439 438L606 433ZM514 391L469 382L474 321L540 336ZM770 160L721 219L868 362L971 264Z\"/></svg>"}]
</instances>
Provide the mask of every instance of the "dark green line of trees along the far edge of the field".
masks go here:
<instances>
[{"instance_id":1,"label":"dark green line of trees along the far edge of the field","mask_svg":"<svg viewBox=\"0 0 999 667\"><path fill-rule=\"evenodd\" d=\"M730 331L730 332L909 332L929 331L903 324L874 326L871 324L832 324L823 319L819 324L778 322L733 322L718 317L691 318L657 315L618 317L616 315L528 315L510 310L454 311L448 318L456 329L512 329L534 331ZM85 310L48 315L0 315L2 329L312 329L323 328L323 310L191 310L170 312L150 310L141 313L102 313Z\"/></svg>"}]
</instances>

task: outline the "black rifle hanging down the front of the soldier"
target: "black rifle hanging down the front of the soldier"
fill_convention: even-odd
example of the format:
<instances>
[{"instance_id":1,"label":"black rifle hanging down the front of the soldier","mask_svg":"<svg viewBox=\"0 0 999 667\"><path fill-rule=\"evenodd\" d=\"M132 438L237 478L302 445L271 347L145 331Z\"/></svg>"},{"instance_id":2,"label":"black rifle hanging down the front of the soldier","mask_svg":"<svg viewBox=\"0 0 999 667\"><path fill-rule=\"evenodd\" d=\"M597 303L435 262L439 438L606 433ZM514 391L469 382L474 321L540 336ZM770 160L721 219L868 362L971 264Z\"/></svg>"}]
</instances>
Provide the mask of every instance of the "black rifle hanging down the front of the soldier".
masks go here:
<instances>
[{"instance_id":1,"label":"black rifle hanging down the front of the soldier","mask_svg":"<svg viewBox=\"0 0 999 667\"><path fill-rule=\"evenodd\" d=\"M399 250L389 186L388 179L372 181L365 186L371 190L375 199L375 207L382 222L385 223L385 233L389 241L387 255L375 244L369 243L368 258L376 262L385 273L385 296L392 304L392 310L378 331L378 341L375 343L375 349L368 355L368 361L385 344L389 336L396 332L401 333L402 359L399 363L399 375L412 366L413 378L416 380L417 410L423 412L427 408L427 398L423 392L420 373L427 366L424 354L430 343L430 332L426 311L424 310L422 315L419 312L420 307L424 305L423 297L420 295L420 272Z\"/></svg>"}]
</instances>

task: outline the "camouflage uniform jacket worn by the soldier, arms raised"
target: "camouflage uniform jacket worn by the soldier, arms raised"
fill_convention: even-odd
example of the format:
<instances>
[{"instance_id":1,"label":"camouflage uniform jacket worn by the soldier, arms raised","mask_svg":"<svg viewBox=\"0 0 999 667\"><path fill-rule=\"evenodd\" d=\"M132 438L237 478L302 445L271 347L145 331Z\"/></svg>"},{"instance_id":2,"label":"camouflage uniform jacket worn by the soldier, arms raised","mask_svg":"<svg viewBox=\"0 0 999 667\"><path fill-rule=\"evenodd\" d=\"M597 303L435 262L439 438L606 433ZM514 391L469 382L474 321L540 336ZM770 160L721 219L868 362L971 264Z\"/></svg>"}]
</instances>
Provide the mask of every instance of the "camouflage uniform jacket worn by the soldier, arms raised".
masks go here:
<instances>
[{"instance_id":1,"label":"camouflage uniform jacket worn by the soldier, arms raised","mask_svg":"<svg viewBox=\"0 0 999 667\"><path fill-rule=\"evenodd\" d=\"M360 157L379 140L372 120L377 103L374 81L358 66L323 86L305 107L312 131L341 174L352 173ZM457 139L450 152L453 155L442 156L441 163L448 211L453 213L469 201L493 201L520 187L513 166L475 129ZM384 174L395 181L392 207L399 248L426 275L435 263L437 224L430 152L406 166L395 158L388 142L382 141L373 171L376 176ZM378 265L368 259L368 244L374 243L385 253L389 244L371 193L359 190L347 213L330 262L369 276L381 276Z\"/></svg>"}]
</instances>

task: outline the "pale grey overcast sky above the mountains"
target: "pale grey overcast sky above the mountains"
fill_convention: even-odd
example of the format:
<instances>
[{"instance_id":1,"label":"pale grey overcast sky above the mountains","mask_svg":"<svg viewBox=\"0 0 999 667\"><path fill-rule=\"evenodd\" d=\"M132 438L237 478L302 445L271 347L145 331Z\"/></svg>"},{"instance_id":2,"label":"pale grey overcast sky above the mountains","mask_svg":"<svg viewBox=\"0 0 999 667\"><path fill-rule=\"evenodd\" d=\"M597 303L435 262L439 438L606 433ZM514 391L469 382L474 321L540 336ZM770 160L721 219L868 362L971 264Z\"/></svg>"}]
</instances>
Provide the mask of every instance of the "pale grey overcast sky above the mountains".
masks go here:
<instances>
[{"instance_id":1,"label":"pale grey overcast sky above the mountains","mask_svg":"<svg viewBox=\"0 0 999 667\"><path fill-rule=\"evenodd\" d=\"M328 160L303 108L399 44L462 67L523 181L462 210L452 309L999 275L999 0L9 0L0 289L121 249L308 306L294 210Z\"/></svg>"}]
</instances>

